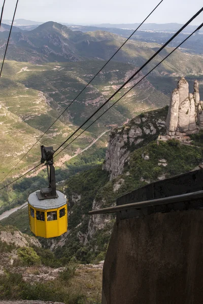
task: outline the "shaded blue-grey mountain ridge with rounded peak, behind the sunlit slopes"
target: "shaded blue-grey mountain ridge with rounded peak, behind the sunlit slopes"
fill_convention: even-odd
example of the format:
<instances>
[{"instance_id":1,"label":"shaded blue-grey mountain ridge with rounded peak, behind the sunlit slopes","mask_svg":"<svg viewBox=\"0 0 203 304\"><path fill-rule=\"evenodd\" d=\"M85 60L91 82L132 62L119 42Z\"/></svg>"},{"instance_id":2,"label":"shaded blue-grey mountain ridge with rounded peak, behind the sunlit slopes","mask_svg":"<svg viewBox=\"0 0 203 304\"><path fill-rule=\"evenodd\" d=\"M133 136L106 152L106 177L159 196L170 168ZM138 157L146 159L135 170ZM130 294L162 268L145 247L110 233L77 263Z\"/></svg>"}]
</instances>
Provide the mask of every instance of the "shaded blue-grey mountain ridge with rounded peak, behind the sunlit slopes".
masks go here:
<instances>
[{"instance_id":1,"label":"shaded blue-grey mountain ridge with rounded peak, behind the sunlit slopes","mask_svg":"<svg viewBox=\"0 0 203 304\"><path fill-rule=\"evenodd\" d=\"M7 38L5 32L0 33L0 46L7 42ZM196 42L197 45L199 44L199 51L203 50L200 38ZM13 32L7 59L31 63L76 62L87 59L108 60L124 41L125 38L110 32L101 30L85 33L79 30L73 31L65 25L50 21L30 31ZM159 46L156 43L129 41L115 56L114 60L140 66L156 52ZM193 43L194 47L195 44ZM164 50L165 53L169 51L169 48ZM4 48L0 48L0 58L3 58L3 56ZM185 63L182 64L179 59L176 60L178 57L181 57ZM203 64L202 60L203 58L200 57L197 64L195 56L190 55L188 57L188 55L176 51L172 57L167 58L157 71L166 73L187 72L187 74L190 71L189 73L199 74ZM159 58L157 57L155 62L158 61ZM150 67L151 65L148 66L148 69Z\"/></svg>"}]
</instances>

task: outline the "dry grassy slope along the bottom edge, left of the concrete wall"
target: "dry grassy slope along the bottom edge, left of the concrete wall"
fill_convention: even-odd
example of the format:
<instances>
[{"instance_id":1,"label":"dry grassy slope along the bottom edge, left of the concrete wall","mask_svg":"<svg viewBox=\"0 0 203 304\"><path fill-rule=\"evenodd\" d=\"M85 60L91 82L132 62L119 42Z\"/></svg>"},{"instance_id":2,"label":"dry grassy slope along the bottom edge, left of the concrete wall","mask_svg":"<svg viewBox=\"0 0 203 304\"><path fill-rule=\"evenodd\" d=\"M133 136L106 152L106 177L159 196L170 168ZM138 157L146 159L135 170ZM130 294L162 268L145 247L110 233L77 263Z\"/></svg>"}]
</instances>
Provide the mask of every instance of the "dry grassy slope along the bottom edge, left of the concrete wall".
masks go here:
<instances>
[{"instance_id":1,"label":"dry grassy slope along the bottom edge, left of the concrete wall","mask_svg":"<svg viewBox=\"0 0 203 304\"><path fill-rule=\"evenodd\" d=\"M42 300L64 302L65 304L100 304L101 273L89 274L90 280L97 279L92 288L83 286L82 278L64 281L59 276L48 282L27 283L22 274L6 272L0 275L0 300ZM86 282L87 284L87 282ZM100 286L99 286L100 285ZM91 295L88 291L91 291ZM94 291L94 292L92 292Z\"/></svg>"}]
</instances>

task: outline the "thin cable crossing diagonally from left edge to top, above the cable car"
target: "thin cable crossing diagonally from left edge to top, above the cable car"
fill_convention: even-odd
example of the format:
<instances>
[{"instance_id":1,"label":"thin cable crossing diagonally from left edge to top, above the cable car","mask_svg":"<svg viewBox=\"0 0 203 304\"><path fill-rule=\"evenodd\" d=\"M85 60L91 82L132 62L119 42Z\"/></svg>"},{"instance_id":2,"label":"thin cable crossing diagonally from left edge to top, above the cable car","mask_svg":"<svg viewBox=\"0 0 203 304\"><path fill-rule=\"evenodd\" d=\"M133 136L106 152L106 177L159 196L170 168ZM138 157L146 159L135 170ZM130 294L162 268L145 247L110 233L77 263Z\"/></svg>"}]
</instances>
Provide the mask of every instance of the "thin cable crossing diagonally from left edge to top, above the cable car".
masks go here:
<instances>
[{"instance_id":1,"label":"thin cable crossing diagonally from left edge to top, above the cable car","mask_svg":"<svg viewBox=\"0 0 203 304\"><path fill-rule=\"evenodd\" d=\"M57 122L57 120L63 115L63 113L72 105L72 103L82 94L82 92L89 86L89 84L95 79L95 77L100 73L101 70L109 63L110 60L120 51L120 49L126 44L126 42L131 38L131 36L141 27L141 25L151 16L151 14L157 9L157 7L163 2L161 0L159 4L151 11L151 13L145 18L145 20L137 27L136 30L132 32L132 34L128 37L128 39L120 46L120 48L113 54L113 56L100 68L100 70L94 75L94 77L88 82L88 84L82 89L82 91L72 100L72 102L60 113L59 117L51 124L51 126L41 135L41 137L34 143L31 148L25 153L25 155L17 162L17 164L5 175L5 177L0 180L2 182L12 171L13 169L23 160L23 158L29 153L29 151L40 141L40 139L49 131L49 129ZM1 74L0 74L1 76Z\"/></svg>"}]
</instances>

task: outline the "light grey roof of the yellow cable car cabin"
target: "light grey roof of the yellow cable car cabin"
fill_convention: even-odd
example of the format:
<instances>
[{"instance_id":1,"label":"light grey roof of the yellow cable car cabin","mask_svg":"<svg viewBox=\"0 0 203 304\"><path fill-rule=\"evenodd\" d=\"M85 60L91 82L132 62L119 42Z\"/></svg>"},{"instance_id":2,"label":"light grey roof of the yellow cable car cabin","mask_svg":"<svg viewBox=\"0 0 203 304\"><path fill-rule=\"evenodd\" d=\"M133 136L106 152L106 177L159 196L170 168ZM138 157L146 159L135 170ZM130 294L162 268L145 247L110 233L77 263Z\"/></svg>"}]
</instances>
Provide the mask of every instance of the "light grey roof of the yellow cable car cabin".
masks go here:
<instances>
[{"instance_id":1,"label":"light grey roof of the yellow cable car cabin","mask_svg":"<svg viewBox=\"0 0 203 304\"><path fill-rule=\"evenodd\" d=\"M58 198L55 199L45 199L45 200L39 200L37 193L40 191L33 192L29 195L28 197L28 203L31 205L33 208L39 208L39 209L56 209L61 206L64 206L67 203L66 196L60 192L56 191Z\"/></svg>"}]
</instances>

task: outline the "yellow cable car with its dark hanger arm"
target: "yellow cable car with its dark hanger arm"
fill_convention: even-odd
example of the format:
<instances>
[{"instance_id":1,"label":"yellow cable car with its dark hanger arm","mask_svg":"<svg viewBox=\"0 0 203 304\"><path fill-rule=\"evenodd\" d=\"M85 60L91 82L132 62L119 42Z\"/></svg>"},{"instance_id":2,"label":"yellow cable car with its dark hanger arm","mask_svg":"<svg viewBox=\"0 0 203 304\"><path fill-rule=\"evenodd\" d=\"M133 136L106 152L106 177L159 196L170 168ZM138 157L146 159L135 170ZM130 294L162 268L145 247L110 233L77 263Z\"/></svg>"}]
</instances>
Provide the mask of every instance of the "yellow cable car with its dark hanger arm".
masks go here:
<instances>
[{"instance_id":1,"label":"yellow cable car with its dark hanger arm","mask_svg":"<svg viewBox=\"0 0 203 304\"><path fill-rule=\"evenodd\" d=\"M29 195L29 226L37 237L54 238L67 232L67 199L56 191L53 147L41 146L41 152L41 163L46 161L47 165L49 187Z\"/></svg>"}]
</instances>

